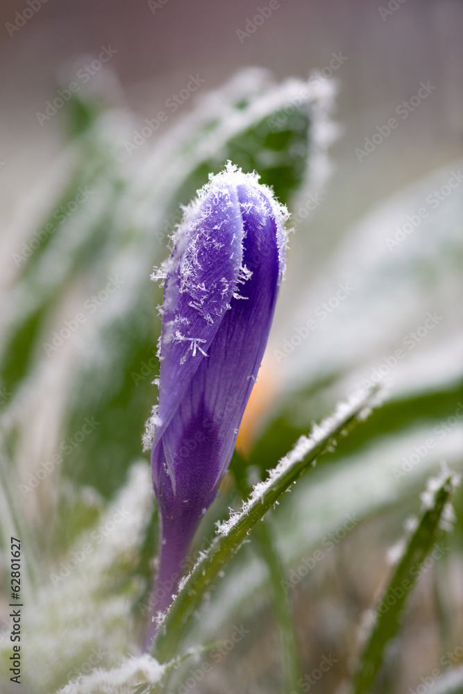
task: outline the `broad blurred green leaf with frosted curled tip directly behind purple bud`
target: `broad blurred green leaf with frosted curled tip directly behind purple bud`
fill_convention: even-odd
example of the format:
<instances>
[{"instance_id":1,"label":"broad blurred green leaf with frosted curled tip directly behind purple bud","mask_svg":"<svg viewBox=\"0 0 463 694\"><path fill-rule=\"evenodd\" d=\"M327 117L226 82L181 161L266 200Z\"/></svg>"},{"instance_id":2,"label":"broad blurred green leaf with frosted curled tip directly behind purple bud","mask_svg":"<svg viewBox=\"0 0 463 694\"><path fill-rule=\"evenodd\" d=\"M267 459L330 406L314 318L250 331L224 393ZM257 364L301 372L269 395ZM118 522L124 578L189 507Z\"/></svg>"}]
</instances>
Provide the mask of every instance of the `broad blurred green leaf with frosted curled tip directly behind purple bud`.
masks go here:
<instances>
[{"instance_id":1,"label":"broad blurred green leaf with frosted curled tip directly behind purple bud","mask_svg":"<svg viewBox=\"0 0 463 694\"><path fill-rule=\"evenodd\" d=\"M125 213L115 212L125 241L119 255L133 254L137 277L130 297L126 291L120 312L95 336L105 354L104 364L93 353L85 363L76 364L75 384L65 409L65 428L71 436L89 412L100 422L94 434L67 457L63 468L73 480L95 486L103 496L119 488L128 461L140 453L144 422L156 398L151 382L158 374L154 353L160 321L155 316L157 289L149 282L149 273L160 260L159 240L174 226L168 220L181 217L179 203L188 203L208 174L223 169L227 159L244 171L257 169L262 183L273 185L283 201L305 180L310 139L311 146L317 144L312 133L317 96L303 81L274 85L262 83L259 77L252 89L246 83L245 76L236 82L234 92L228 93L227 87L220 90L212 108L198 103L190 116L192 127L181 128L178 135L174 127L166 135L166 140L171 138L169 160L163 159L163 146L160 151L154 147L149 175L140 167L133 190L122 191L119 205ZM307 96L285 115L284 109L305 87ZM278 113L284 117L277 128ZM185 133L188 137L183 140ZM317 147L320 151L321 144ZM138 208L151 210L148 223ZM124 266L117 257L112 264Z\"/></svg>"}]
</instances>

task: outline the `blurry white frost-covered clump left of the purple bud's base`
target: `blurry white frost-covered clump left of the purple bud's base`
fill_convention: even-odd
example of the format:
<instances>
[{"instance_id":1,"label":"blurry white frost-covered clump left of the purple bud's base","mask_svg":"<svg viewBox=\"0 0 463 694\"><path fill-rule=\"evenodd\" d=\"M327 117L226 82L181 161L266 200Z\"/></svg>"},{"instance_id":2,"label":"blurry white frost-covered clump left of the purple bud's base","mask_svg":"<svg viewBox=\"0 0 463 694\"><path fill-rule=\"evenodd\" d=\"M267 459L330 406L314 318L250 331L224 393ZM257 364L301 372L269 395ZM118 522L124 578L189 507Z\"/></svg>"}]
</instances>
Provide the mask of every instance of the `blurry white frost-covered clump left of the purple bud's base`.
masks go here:
<instances>
[{"instance_id":1,"label":"blurry white frost-covered clump left of the purple bud's base","mask_svg":"<svg viewBox=\"0 0 463 694\"><path fill-rule=\"evenodd\" d=\"M44 581L37 586L34 610L24 615L30 663L27 673L44 689L52 686L58 668L71 670L76 658L85 660L84 654L90 648L104 644L111 657L137 652L137 644L131 642L133 627L129 614L144 585L131 578L124 584L124 591L114 591L113 579L115 567L120 572L120 567L125 566L128 577L135 571L152 505L149 465L145 461L136 463L128 484L108 505L96 528L76 539L61 564L56 559L56 564L44 567ZM110 523L117 531L107 530ZM62 577L62 564L75 564L74 557L85 554L86 543L92 551ZM72 638L57 638L57 634L71 634ZM87 691L94 690L74 688L65 690L65 694Z\"/></svg>"}]
</instances>

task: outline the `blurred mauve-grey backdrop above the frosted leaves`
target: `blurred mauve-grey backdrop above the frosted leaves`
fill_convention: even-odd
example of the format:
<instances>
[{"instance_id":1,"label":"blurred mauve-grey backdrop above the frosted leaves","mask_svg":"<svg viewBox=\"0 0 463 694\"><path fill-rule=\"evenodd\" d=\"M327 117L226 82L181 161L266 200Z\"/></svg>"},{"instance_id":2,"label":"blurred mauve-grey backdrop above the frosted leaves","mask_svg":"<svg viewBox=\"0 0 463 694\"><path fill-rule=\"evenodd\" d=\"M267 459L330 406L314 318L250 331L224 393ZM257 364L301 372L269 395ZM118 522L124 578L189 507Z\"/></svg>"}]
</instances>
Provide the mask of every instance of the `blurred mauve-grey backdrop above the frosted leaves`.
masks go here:
<instances>
[{"instance_id":1,"label":"blurred mauve-grey backdrop above the frosted leaves","mask_svg":"<svg viewBox=\"0 0 463 694\"><path fill-rule=\"evenodd\" d=\"M380 8L391 14L381 14ZM2 174L3 214L10 219L15 207L17 178L24 194L62 149L62 112L42 127L35 112L56 96L63 63L80 58L81 67L85 54L95 57L108 44L117 51L108 67L119 79L119 96L140 122L184 87L191 72L198 72L205 79L203 88L210 90L239 67L265 67L278 79L305 77L312 69L328 66L333 52L346 56L335 72L342 85L337 119L344 136L332 149L337 170L330 204L317 210L317 229L323 232L312 232L311 257L323 246L323 238L342 233L339 229L378 200L460 155L460 1L406 0L392 11L387 3L361 0L286 0L241 42L237 30L245 31L255 9L239 1L192 6L169 0L153 13L146 2L128 6L49 0L22 28L10 30L11 36L5 29L1 158L8 169L3 167ZM2 26L14 23L15 12L21 10L15 2L2 3ZM432 98L401 122L387 146L360 165L355 147L428 80L437 87ZM185 108L190 106L185 103Z\"/></svg>"}]
</instances>

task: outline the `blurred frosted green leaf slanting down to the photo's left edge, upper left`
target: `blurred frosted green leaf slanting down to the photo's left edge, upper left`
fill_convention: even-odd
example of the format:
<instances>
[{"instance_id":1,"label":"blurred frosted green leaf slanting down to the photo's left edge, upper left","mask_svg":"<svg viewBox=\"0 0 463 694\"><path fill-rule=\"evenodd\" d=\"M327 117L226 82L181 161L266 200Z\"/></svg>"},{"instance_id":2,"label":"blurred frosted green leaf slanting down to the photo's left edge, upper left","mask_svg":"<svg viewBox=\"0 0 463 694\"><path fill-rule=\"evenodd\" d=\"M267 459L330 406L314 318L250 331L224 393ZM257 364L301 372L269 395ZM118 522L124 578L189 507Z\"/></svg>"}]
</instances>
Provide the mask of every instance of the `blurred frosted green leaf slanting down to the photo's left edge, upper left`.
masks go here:
<instances>
[{"instance_id":1,"label":"blurred frosted green leaf slanting down to the photo's left edge, upper left","mask_svg":"<svg viewBox=\"0 0 463 694\"><path fill-rule=\"evenodd\" d=\"M44 354L41 331L62 294L106 252L122 175L110 146L97 133L82 137L76 150L74 169L53 210L37 224L37 236L28 239L31 255L20 266L11 292L0 344L0 383L8 391L15 391L33 370L37 354ZM91 196L77 203L82 189ZM93 205L92 196L98 204Z\"/></svg>"}]
</instances>

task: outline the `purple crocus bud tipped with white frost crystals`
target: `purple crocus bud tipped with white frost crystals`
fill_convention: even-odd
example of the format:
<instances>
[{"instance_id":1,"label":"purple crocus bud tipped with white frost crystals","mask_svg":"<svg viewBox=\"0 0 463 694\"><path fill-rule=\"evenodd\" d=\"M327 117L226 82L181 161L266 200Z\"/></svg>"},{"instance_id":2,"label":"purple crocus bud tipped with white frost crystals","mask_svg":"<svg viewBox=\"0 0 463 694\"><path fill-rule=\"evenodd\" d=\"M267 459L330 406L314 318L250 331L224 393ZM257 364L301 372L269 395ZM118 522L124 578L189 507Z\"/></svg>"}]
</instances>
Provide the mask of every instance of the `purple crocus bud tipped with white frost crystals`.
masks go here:
<instances>
[{"instance_id":1,"label":"purple crocus bud tipped with white frost crystals","mask_svg":"<svg viewBox=\"0 0 463 694\"><path fill-rule=\"evenodd\" d=\"M288 214L258 178L230 162L211 174L153 275L165 279L159 403L145 435L160 524L155 613L176 593L233 455L283 278Z\"/></svg>"}]
</instances>

